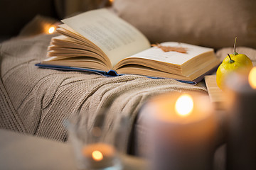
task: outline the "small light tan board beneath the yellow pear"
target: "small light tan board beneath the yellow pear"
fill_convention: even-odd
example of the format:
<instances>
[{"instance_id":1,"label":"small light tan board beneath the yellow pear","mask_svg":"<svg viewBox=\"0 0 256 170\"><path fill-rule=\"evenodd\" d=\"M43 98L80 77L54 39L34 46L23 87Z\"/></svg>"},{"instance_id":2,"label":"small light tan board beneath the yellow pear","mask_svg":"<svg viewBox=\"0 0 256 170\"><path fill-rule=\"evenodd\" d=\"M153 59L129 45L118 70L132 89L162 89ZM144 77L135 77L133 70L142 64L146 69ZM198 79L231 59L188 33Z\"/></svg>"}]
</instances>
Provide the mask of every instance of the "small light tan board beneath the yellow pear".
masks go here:
<instances>
[{"instance_id":1,"label":"small light tan board beneath the yellow pear","mask_svg":"<svg viewBox=\"0 0 256 170\"><path fill-rule=\"evenodd\" d=\"M210 101L214 104L216 109L223 109L223 91L218 87L216 83L216 75L209 75L205 77L206 87L210 96Z\"/></svg>"}]
</instances>

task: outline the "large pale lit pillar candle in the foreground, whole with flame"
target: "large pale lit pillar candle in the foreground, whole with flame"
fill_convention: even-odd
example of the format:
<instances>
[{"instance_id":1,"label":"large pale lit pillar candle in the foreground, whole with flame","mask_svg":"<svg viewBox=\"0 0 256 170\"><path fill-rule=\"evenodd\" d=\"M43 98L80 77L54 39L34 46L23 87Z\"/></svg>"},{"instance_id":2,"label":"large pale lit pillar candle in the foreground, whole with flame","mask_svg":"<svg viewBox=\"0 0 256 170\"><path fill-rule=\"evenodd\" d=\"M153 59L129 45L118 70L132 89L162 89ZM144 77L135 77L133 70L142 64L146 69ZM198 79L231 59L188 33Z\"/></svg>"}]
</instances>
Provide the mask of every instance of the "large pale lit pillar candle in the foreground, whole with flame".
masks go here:
<instances>
[{"instance_id":1,"label":"large pale lit pillar candle in the foreground, whole with flame","mask_svg":"<svg viewBox=\"0 0 256 170\"><path fill-rule=\"evenodd\" d=\"M215 114L203 94L164 94L146 103L153 169L212 169Z\"/></svg>"}]
</instances>

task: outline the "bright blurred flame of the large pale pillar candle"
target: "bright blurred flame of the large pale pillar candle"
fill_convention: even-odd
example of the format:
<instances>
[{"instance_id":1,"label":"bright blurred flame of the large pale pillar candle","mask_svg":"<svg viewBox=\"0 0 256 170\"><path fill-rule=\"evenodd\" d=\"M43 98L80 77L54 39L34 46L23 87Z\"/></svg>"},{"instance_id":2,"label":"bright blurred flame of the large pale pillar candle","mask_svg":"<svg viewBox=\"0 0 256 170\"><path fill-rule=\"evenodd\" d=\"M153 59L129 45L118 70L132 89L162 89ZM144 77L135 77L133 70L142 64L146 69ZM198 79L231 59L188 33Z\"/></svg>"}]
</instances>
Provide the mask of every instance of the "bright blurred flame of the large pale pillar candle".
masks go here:
<instances>
[{"instance_id":1,"label":"bright blurred flame of the large pale pillar candle","mask_svg":"<svg viewBox=\"0 0 256 170\"><path fill-rule=\"evenodd\" d=\"M181 95L175 104L178 115L187 116L193 111L193 98L188 94Z\"/></svg>"}]
</instances>

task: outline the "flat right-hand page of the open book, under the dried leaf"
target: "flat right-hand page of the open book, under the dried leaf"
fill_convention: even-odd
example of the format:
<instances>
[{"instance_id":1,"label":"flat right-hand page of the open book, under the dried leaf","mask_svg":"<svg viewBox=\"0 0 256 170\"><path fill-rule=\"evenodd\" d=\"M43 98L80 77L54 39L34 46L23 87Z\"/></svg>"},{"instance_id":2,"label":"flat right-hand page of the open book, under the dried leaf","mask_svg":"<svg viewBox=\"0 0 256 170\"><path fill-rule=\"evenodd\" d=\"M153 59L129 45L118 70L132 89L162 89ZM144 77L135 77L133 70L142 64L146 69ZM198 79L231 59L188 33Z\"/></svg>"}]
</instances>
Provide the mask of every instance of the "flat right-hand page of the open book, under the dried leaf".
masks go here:
<instances>
[{"instance_id":1,"label":"flat right-hand page of the open book, under the dried leaf","mask_svg":"<svg viewBox=\"0 0 256 170\"><path fill-rule=\"evenodd\" d=\"M144 50L143 52L139 52L135 55L132 55L131 57L139 57L149 60L156 60L159 62L167 62L171 64L177 64L181 65L188 60L191 60L193 57L196 57L198 55L201 55L205 52L211 52L213 49L208 47L200 47L197 45L189 45L186 43L180 43L180 42L163 42L161 45L164 46L170 46L170 47L185 47L187 50L187 53L181 53L181 52L164 52L159 47L151 47L148 50ZM129 57L127 57L129 58Z\"/></svg>"}]
</instances>

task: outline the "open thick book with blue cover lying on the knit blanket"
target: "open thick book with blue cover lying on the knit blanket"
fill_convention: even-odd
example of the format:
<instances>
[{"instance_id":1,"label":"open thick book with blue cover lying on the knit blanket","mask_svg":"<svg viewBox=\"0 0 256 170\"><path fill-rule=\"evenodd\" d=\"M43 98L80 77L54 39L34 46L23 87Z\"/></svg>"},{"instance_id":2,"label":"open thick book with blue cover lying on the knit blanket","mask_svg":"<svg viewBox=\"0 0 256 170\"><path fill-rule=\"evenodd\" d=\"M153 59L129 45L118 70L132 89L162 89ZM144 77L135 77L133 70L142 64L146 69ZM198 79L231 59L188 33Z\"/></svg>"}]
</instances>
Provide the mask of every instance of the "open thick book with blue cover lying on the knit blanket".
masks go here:
<instances>
[{"instance_id":1,"label":"open thick book with blue cover lying on the knit blanket","mask_svg":"<svg viewBox=\"0 0 256 170\"><path fill-rule=\"evenodd\" d=\"M200 81L220 64L211 48L179 42L164 47L183 47L186 53L164 52L131 24L105 8L63 20L61 35L52 38L48 57L39 67L73 69L117 76L139 74L181 81Z\"/></svg>"}]
</instances>

